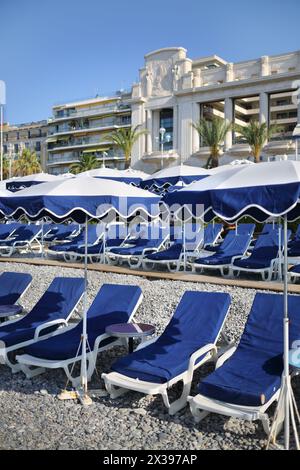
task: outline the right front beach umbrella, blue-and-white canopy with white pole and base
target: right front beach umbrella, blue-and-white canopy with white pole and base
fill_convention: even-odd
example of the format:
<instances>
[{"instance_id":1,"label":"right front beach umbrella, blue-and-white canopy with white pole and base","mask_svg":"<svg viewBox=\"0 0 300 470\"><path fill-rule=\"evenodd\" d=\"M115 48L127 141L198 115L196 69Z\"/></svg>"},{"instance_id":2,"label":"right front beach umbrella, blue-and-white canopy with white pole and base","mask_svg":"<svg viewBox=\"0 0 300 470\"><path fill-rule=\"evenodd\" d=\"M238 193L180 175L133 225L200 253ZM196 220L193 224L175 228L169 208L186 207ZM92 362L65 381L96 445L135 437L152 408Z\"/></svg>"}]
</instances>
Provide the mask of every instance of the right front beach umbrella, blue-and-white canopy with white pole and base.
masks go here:
<instances>
[{"instance_id":1,"label":"right front beach umbrella, blue-and-white canopy with white pole and base","mask_svg":"<svg viewBox=\"0 0 300 470\"><path fill-rule=\"evenodd\" d=\"M196 188L196 186L198 187ZM196 213L196 205L203 204L202 217L213 214L227 222L250 216L259 222L269 217L284 219L284 312L283 312L283 376L278 409L284 412L285 448L289 448L289 426L292 418L297 447L298 436L294 422L294 397L289 376L289 314L288 314L288 253L287 225L300 217L300 162L281 161L245 165L239 172L226 170L194 183L187 188L165 196L165 203L190 203L189 210ZM198 208L199 210L199 208ZM278 420L279 420L278 418ZM277 433L279 422L274 421L271 435Z\"/></svg>"}]
</instances>

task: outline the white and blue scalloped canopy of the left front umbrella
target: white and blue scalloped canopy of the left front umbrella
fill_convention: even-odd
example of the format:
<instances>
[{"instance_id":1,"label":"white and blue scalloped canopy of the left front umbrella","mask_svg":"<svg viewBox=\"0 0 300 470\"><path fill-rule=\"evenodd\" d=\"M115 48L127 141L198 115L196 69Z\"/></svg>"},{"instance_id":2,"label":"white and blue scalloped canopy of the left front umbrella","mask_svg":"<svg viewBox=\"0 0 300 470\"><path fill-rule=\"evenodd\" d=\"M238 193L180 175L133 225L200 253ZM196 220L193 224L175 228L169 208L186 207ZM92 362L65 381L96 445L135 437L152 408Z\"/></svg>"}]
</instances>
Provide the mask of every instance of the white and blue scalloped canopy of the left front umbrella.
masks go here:
<instances>
[{"instance_id":1,"label":"white and blue scalloped canopy of the left front umbrella","mask_svg":"<svg viewBox=\"0 0 300 470\"><path fill-rule=\"evenodd\" d=\"M159 215L160 198L148 191L112 180L91 177L59 179L0 196L0 211L7 217L26 214L31 220L49 216L82 223L86 217L100 219L114 211L128 218L139 212Z\"/></svg>"}]
</instances>

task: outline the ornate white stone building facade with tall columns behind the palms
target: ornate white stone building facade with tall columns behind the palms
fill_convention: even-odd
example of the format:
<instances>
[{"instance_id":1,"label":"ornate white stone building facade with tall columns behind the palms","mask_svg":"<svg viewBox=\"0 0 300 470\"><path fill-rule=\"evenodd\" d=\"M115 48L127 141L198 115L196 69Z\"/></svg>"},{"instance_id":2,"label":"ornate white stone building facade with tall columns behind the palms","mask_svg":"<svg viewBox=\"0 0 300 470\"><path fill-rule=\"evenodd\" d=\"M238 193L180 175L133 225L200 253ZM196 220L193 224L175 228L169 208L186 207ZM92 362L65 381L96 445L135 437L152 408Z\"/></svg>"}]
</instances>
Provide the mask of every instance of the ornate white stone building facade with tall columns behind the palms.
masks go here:
<instances>
[{"instance_id":1,"label":"ornate white stone building facade with tall columns behind the palms","mask_svg":"<svg viewBox=\"0 0 300 470\"><path fill-rule=\"evenodd\" d=\"M280 132L266 142L263 156L291 154L292 132L300 122L299 89L300 51L235 64L218 56L191 60L181 47L151 52L132 87L131 124L148 130L134 147L132 166L150 173L162 161L164 166L203 166L209 149L192 123L214 115L241 126L251 119L277 124ZM161 128L168 135L163 148ZM223 151L224 162L250 155L234 128Z\"/></svg>"}]
</instances>

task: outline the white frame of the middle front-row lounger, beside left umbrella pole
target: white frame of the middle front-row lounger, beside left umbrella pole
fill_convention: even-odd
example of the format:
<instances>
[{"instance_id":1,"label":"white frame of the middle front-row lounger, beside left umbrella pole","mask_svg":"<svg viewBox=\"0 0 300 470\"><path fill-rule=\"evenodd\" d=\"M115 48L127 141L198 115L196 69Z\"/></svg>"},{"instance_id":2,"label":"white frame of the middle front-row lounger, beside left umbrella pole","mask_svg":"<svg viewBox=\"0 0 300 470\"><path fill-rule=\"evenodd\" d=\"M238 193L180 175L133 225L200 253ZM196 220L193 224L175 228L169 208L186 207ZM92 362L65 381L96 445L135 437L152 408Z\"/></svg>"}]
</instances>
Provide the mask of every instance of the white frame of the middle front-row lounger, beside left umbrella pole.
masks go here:
<instances>
[{"instance_id":1,"label":"white frame of the middle front-row lounger, beside left umbrella pole","mask_svg":"<svg viewBox=\"0 0 300 470\"><path fill-rule=\"evenodd\" d=\"M136 306L134 307L129 319L128 323L133 320L138 308L140 307L141 303L143 301L143 294L141 293ZM63 334L65 331L68 331L72 328L75 328L76 325L68 326L67 328L63 328L61 331L57 331L54 333L54 335L51 336L57 336L60 334ZM104 341L107 338L112 338L112 336L104 333L100 336L95 341L94 348L92 351L88 352L86 354L87 362L88 362L88 368L87 368L87 380L90 381L92 378L92 375L95 371L96 368L96 362L97 362L97 356L98 353L102 351L106 351L114 346L118 345L124 345L124 342L127 343L127 340L124 338L116 338L114 341L111 343L107 344L106 346L99 347L100 343ZM78 345L79 346L79 345ZM77 357L72 357L69 359L61 360L61 361L56 361L56 360L47 360L47 359L41 359L38 357L30 356L29 354L23 354L20 356L16 356L16 360L18 361L18 367L19 370L22 370L24 374L26 375L27 378L32 378L37 375L43 374L46 369L63 369L65 371L66 376L68 377L69 381L72 383L72 386L74 388L78 387L80 385L80 375L77 377L72 376L72 367L76 362L81 361L82 356L78 355Z\"/></svg>"}]
</instances>

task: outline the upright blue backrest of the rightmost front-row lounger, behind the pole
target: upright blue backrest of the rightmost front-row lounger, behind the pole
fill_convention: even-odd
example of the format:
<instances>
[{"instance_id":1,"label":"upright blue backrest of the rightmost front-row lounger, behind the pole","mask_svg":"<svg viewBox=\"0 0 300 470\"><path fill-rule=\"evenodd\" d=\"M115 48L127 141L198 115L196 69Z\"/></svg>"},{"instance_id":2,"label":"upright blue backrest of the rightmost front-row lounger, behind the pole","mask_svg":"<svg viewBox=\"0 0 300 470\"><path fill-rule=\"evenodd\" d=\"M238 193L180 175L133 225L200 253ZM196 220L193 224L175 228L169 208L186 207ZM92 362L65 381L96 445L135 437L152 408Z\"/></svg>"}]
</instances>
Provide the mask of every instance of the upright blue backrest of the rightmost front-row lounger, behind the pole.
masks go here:
<instances>
[{"instance_id":1,"label":"upright blue backrest of the rightmost front-row lounger, behind the pole","mask_svg":"<svg viewBox=\"0 0 300 470\"><path fill-rule=\"evenodd\" d=\"M290 345L300 337L300 297L288 296ZM283 353L283 295L255 295L238 348L264 351L271 356Z\"/></svg>"}]
</instances>

